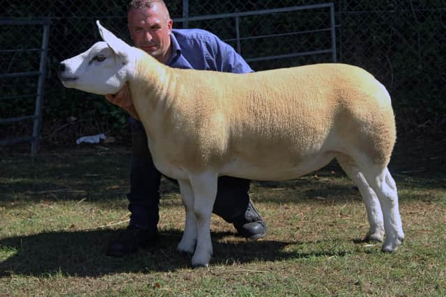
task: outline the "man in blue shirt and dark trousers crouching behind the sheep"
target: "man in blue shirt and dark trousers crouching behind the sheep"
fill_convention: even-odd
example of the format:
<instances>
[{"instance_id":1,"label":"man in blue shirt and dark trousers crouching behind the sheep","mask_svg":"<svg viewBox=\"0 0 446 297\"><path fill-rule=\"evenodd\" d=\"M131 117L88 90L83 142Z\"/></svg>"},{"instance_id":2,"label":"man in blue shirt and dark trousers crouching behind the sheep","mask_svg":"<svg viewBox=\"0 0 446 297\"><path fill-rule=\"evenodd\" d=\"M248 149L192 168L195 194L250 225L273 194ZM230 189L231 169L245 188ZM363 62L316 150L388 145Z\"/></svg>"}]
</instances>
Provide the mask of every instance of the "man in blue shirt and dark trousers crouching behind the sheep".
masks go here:
<instances>
[{"instance_id":1,"label":"man in blue shirt and dark trousers crouching behind the sheep","mask_svg":"<svg viewBox=\"0 0 446 297\"><path fill-rule=\"evenodd\" d=\"M133 0L128 8L128 29L134 46L151 54L157 61L171 67L252 72L232 47L210 32L172 29L173 21L162 0ZM134 114L128 86L107 100ZM114 239L107 255L121 257L155 241L159 220L161 174L153 165L141 122L131 119L132 168L128 195L130 224ZM187 148L185 148L187 149ZM217 198L213 212L233 223L238 233L249 239L266 236L266 224L249 200L249 180L235 177L218 179ZM180 219L180 218L178 218ZM183 218L181 218L183 219Z\"/></svg>"}]
</instances>

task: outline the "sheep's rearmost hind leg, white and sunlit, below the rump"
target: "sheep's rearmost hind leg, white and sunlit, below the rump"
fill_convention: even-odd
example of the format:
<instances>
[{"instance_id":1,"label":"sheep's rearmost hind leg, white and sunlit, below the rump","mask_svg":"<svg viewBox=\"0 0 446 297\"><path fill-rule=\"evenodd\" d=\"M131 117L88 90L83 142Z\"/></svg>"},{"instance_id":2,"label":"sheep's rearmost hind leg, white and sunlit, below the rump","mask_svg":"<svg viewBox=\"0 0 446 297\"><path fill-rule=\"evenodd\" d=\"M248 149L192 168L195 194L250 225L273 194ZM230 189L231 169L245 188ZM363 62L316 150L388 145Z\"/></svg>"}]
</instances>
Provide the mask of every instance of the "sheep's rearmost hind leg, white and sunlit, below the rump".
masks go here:
<instances>
[{"instance_id":1,"label":"sheep's rearmost hind leg, white and sunlit, below the rump","mask_svg":"<svg viewBox=\"0 0 446 297\"><path fill-rule=\"evenodd\" d=\"M378 196L383 211L385 241L382 250L394 252L404 239L401 216L399 215L397 185L387 167L377 168L373 164L364 166L364 177Z\"/></svg>"}]
</instances>

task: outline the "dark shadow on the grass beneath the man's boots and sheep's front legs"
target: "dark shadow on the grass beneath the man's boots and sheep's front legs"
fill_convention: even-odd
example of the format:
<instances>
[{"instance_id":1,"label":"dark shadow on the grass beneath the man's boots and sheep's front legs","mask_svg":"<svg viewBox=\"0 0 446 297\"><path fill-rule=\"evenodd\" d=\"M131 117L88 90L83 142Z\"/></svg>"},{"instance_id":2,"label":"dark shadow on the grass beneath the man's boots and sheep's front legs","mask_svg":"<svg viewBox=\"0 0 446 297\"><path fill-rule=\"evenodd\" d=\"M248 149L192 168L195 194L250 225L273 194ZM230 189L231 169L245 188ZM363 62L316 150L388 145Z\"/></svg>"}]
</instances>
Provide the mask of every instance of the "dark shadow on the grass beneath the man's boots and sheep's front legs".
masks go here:
<instances>
[{"instance_id":1,"label":"dark shadow on the grass beneath the man's boots and sheep's front legs","mask_svg":"<svg viewBox=\"0 0 446 297\"><path fill-rule=\"evenodd\" d=\"M79 232L46 232L31 236L17 236L0 241L0 251L6 259L0 262L0 277L10 275L35 275L57 277L77 275L96 277L111 273L150 273L151 271L176 271L190 268L191 257L180 255L176 246L182 232L167 230L154 246L124 257L107 257L105 248L119 230ZM326 256L330 252L314 254L285 251L295 242L286 241L218 241L230 232L213 232L215 256L211 264L231 264L254 261L276 261L302 257ZM8 257L9 255L9 257ZM330 255L329 255L330 256Z\"/></svg>"}]
</instances>

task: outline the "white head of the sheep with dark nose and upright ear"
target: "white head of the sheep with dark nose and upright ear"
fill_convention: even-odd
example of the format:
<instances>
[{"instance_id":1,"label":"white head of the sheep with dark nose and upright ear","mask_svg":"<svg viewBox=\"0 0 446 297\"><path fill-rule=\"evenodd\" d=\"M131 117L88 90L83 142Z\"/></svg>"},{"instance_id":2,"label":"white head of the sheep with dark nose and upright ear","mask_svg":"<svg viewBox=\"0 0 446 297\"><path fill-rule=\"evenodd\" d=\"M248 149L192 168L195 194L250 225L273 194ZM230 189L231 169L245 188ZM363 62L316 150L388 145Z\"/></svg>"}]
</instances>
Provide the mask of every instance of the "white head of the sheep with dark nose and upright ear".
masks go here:
<instances>
[{"instance_id":1,"label":"white head of the sheep with dark nose and upright ear","mask_svg":"<svg viewBox=\"0 0 446 297\"><path fill-rule=\"evenodd\" d=\"M96 21L102 42L61 62L59 78L66 88L105 95L114 94L128 80L134 48Z\"/></svg>"}]
</instances>

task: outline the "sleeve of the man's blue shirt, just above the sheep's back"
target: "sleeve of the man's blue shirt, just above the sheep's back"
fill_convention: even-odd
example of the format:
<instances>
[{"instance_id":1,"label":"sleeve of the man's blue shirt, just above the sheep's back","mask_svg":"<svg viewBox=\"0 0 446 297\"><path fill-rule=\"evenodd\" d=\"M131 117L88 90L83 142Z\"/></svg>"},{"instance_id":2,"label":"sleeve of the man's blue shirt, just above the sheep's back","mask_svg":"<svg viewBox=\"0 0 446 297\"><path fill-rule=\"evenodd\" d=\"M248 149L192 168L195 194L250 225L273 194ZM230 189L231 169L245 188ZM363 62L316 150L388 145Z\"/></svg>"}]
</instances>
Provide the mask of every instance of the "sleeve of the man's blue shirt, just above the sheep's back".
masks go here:
<instances>
[{"instance_id":1,"label":"sleeve of the man's blue shirt, just above the sheep's back","mask_svg":"<svg viewBox=\"0 0 446 297\"><path fill-rule=\"evenodd\" d=\"M211 34L206 44L206 60L212 70L220 72L254 72L231 45Z\"/></svg>"}]
</instances>

